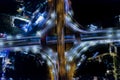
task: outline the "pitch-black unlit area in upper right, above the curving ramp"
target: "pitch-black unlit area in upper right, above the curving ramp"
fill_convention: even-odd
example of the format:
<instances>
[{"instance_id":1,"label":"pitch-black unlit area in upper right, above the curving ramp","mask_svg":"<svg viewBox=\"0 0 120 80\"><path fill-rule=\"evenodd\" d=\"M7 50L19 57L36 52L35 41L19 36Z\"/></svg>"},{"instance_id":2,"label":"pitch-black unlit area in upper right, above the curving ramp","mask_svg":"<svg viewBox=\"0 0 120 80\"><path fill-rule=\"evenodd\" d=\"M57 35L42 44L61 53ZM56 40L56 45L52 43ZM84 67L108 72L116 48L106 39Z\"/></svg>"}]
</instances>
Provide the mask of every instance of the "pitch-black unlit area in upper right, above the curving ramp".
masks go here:
<instances>
[{"instance_id":1,"label":"pitch-black unlit area in upper right, above the curving ramp","mask_svg":"<svg viewBox=\"0 0 120 80\"><path fill-rule=\"evenodd\" d=\"M120 0L72 0L75 19L82 25L96 23L115 27L115 16L120 14Z\"/></svg>"}]
</instances>

